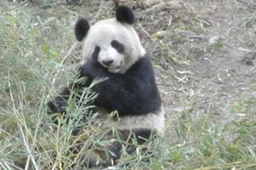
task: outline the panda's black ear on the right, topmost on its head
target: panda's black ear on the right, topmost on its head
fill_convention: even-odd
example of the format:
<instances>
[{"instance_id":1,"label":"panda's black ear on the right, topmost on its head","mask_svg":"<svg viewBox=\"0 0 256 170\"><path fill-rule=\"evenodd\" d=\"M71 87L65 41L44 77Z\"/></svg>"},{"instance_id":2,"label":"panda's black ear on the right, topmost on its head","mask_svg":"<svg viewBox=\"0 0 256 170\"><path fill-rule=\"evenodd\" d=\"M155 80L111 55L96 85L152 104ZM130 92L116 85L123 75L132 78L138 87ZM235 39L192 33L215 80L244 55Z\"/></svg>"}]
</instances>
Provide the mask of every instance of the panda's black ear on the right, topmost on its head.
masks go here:
<instances>
[{"instance_id":1,"label":"panda's black ear on the right, topmost on its head","mask_svg":"<svg viewBox=\"0 0 256 170\"><path fill-rule=\"evenodd\" d=\"M121 23L133 24L135 22L135 15L131 8L121 5L116 9L116 19Z\"/></svg>"}]
</instances>

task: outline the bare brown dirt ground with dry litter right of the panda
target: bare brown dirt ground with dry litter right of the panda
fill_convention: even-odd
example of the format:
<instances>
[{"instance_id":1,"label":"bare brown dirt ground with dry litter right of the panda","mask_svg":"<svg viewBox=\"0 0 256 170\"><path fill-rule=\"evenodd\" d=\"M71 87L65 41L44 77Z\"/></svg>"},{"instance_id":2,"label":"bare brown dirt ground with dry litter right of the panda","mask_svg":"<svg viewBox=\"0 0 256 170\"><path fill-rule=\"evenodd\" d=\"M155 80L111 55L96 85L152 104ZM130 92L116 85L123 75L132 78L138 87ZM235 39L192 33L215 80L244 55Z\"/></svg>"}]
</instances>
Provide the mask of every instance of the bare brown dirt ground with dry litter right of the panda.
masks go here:
<instances>
[{"instance_id":1,"label":"bare brown dirt ground with dry litter right of the panda","mask_svg":"<svg viewBox=\"0 0 256 170\"><path fill-rule=\"evenodd\" d=\"M220 125L245 116L241 104L256 98L255 0L177 0L135 11L167 126L186 110Z\"/></svg>"}]
</instances>

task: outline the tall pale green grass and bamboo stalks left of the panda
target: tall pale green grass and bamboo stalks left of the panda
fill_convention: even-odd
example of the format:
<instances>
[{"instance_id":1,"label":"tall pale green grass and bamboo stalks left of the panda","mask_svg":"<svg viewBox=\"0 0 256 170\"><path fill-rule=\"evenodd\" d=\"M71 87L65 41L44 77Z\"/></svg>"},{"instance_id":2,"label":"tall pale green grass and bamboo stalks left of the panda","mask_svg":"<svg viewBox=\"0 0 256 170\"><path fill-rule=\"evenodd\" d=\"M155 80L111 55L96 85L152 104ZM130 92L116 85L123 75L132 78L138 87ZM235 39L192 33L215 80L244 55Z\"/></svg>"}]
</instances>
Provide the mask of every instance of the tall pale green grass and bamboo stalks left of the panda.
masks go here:
<instances>
[{"instance_id":1,"label":"tall pale green grass and bamboo stalks left of the panda","mask_svg":"<svg viewBox=\"0 0 256 170\"><path fill-rule=\"evenodd\" d=\"M74 47L68 18L74 15L63 6L2 2L0 7L1 166L54 169L69 160L75 124L52 124L45 103L75 79L75 67L64 64Z\"/></svg>"}]
</instances>

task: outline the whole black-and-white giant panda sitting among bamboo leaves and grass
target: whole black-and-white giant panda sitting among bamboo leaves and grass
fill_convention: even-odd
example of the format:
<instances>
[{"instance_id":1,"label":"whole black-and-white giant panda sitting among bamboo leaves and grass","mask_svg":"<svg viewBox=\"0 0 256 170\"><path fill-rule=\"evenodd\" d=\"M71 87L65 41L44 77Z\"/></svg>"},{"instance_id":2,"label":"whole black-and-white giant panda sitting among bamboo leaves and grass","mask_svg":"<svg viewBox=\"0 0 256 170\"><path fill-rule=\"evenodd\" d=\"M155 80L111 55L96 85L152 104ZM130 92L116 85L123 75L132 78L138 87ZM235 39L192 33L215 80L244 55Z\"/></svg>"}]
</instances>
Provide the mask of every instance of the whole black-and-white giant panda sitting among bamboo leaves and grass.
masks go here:
<instances>
[{"instance_id":1,"label":"whole black-and-white giant panda sitting among bamboo leaves and grass","mask_svg":"<svg viewBox=\"0 0 256 170\"><path fill-rule=\"evenodd\" d=\"M139 144L150 138L153 131L163 134L163 104L151 60L132 27L134 22L135 15L127 6L118 7L115 18L100 20L92 27L84 18L76 22L76 39L83 42L83 61L79 73L88 79L87 82L72 83L65 87L54 100L48 102L50 114L67 108L71 88L83 88L89 86L93 79L107 78L93 87L98 93L93 102L99 112L98 119L105 124L112 122L111 126L120 131L124 140L131 133L135 134ZM109 119L107 115L112 111L118 112L119 120ZM99 163L91 158L89 166L116 163L120 157L121 144L114 142L112 132L107 139L113 141L107 147L109 152L102 154L95 151L102 160Z\"/></svg>"}]
</instances>

